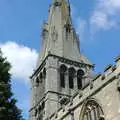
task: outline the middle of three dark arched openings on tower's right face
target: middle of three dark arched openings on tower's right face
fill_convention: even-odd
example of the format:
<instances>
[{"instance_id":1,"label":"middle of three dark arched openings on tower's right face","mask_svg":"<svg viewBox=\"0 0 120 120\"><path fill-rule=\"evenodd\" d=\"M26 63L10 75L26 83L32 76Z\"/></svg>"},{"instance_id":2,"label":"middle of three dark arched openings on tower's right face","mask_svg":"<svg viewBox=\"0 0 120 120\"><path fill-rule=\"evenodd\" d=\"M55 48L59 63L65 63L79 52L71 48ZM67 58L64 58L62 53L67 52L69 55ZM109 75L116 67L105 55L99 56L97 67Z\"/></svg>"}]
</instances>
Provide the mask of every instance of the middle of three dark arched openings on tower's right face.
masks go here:
<instances>
[{"instance_id":1,"label":"middle of three dark arched openings on tower's right face","mask_svg":"<svg viewBox=\"0 0 120 120\"><path fill-rule=\"evenodd\" d=\"M73 89L74 88L74 77L75 77L75 69L74 68L69 68L68 73L69 73L69 88Z\"/></svg>"}]
</instances>

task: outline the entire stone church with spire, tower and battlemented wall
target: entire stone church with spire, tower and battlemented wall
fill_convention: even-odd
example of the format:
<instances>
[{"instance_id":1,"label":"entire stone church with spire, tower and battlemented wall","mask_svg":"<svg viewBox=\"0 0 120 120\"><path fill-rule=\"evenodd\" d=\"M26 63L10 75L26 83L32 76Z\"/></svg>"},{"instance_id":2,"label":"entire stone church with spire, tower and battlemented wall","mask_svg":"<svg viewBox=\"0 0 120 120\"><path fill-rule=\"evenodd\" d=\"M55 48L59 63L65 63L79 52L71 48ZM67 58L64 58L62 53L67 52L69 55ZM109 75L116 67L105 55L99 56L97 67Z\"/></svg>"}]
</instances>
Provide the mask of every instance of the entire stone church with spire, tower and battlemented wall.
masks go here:
<instances>
[{"instance_id":1,"label":"entire stone church with spire, tower and battlemented wall","mask_svg":"<svg viewBox=\"0 0 120 120\"><path fill-rule=\"evenodd\" d=\"M52 0L31 75L30 120L120 120L120 56L101 74L80 51L68 0Z\"/></svg>"}]
</instances>

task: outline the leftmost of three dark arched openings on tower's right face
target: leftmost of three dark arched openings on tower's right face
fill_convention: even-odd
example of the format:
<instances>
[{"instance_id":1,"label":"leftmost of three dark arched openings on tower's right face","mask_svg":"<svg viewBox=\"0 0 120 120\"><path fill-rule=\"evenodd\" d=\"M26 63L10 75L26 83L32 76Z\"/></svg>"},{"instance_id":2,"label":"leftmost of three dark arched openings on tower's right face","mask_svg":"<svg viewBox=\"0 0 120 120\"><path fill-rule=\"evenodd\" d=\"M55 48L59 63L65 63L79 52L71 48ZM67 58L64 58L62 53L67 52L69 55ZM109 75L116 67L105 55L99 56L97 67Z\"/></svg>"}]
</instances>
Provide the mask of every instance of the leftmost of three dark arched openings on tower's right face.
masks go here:
<instances>
[{"instance_id":1,"label":"leftmost of three dark arched openings on tower's right face","mask_svg":"<svg viewBox=\"0 0 120 120\"><path fill-rule=\"evenodd\" d=\"M65 65L60 66L60 86L65 88L65 72L67 67Z\"/></svg>"}]
</instances>

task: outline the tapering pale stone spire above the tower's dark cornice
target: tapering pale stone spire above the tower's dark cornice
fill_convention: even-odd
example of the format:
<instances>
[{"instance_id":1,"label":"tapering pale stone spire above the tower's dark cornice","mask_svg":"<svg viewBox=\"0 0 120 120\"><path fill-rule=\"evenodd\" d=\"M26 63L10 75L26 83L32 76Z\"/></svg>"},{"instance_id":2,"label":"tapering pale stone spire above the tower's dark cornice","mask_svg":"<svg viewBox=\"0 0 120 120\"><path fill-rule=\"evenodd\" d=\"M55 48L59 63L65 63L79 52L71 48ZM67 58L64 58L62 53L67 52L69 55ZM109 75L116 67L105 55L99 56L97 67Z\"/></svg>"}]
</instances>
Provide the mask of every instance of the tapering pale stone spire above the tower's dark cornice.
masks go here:
<instances>
[{"instance_id":1,"label":"tapering pale stone spire above the tower's dark cornice","mask_svg":"<svg viewBox=\"0 0 120 120\"><path fill-rule=\"evenodd\" d=\"M53 0L49 9L48 21L43 25L42 49L37 67L48 54L91 65L80 53L79 37L72 25L70 12L69 2Z\"/></svg>"}]
</instances>

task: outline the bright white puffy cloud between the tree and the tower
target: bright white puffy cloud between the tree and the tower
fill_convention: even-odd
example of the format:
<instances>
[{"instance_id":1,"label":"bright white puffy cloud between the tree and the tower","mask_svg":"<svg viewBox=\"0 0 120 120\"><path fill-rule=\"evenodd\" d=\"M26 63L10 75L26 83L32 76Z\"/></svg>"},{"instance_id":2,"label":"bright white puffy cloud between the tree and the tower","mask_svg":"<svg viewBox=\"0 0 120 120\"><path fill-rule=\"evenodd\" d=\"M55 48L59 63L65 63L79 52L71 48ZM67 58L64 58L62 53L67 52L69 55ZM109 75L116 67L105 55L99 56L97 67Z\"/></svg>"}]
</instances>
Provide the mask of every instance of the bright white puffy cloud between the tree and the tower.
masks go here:
<instances>
[{"instance_id":1,"label":"bright white puffy cloud between the tree and the tower","mask_svg":"<svg viewBox=\"0 0 120 120\"><path fill-rule=\"evenodd\" d=\"M28 82L36 64L38 56L36 50L12 41L1 43L0 48L12 65L11 74L13 77Z\"/></svg>"}]
</instances>

